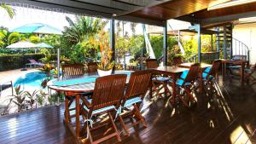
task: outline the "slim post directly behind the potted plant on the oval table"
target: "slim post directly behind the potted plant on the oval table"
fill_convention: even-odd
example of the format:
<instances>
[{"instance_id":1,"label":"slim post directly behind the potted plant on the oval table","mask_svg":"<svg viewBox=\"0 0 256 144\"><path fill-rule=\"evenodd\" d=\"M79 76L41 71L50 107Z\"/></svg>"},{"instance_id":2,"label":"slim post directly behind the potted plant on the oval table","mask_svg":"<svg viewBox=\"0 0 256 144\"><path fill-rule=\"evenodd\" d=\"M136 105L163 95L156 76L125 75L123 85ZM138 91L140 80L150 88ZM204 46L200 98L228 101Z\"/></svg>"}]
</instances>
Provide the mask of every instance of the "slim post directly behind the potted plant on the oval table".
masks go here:
<instances>
[{"instance_id":1,"label":"slim post directly behind the potted plant on the oval table","mask_svg":"<svg viewBox=\"0 0 256 144\"><path fill-rule=\"evenodd\" d=\"M110 49L112 50L112 60L115 60L115 39L114 39L114 20L110 20L110 29L109 29L109 44L110 44ZM115 62L113 65L113 71L115 67Z\"/></svg>"}]
</instances>

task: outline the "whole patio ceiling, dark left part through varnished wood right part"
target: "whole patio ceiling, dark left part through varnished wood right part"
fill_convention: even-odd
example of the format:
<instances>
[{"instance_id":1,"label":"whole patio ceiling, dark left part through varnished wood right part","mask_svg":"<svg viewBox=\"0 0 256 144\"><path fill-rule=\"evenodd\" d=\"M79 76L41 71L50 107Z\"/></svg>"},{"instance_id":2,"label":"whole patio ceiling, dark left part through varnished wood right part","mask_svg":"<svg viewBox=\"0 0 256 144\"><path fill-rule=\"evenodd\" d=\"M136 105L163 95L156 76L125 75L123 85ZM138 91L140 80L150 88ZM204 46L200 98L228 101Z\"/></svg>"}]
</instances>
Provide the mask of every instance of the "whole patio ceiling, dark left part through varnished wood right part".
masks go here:
<instances>
[{"instance_id":1,"label":"whole patio ceiling, dark left part through varnished wood right part","mask_svg":"<svg viewBox=\"0 0 256 144\"><path fill-rule=\"evenodd\" d=\"M2 3L21 3L63 9L76 14L164 26L165 20L226 1L230 0L2 0Z\"/></svg>"}]
</instances>

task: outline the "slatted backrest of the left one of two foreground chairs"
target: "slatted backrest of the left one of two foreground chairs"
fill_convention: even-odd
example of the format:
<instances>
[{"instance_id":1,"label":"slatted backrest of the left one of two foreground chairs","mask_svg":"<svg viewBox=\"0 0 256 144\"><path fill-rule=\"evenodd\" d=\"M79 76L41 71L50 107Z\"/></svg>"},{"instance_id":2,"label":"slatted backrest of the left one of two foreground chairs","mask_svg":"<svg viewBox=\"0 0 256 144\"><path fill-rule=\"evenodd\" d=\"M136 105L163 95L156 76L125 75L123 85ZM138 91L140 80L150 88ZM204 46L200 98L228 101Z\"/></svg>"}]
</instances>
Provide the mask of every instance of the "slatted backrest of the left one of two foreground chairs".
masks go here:
<instances>
[{"instance_id":1,"label":"slatted backrest of the left one of two foreground chairs","mask_svg":"<svg viewBox=\"0 0 256 144\"><path fill-rule=\"evenodd\" d=\"M96 78L91 101L93 109L119 104L124 97L126 77L126 74L115 74Z\"/></svg>"}]
</instances>

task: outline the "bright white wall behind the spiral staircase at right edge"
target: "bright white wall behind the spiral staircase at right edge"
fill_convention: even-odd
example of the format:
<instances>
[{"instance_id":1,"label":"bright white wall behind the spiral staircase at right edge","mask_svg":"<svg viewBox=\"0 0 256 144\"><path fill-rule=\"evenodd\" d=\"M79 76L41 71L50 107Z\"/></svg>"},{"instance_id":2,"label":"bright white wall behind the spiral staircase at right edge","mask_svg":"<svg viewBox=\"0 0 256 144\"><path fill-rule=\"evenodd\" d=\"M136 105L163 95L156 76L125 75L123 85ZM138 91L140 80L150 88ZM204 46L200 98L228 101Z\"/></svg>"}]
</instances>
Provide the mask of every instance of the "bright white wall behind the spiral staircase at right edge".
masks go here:
<instances>
[{"instance_id":1,"label":"bright white wall behind the spiral staircase at right edge","mask_svg":"<svg viewBox=\"0 0 256 144\"><path fill-rule=\"evenodd\" d=\"M234 26L233 37L247 44L250 51L250 64L256 63L256 23Z\"/></svg>"}]
</instances>

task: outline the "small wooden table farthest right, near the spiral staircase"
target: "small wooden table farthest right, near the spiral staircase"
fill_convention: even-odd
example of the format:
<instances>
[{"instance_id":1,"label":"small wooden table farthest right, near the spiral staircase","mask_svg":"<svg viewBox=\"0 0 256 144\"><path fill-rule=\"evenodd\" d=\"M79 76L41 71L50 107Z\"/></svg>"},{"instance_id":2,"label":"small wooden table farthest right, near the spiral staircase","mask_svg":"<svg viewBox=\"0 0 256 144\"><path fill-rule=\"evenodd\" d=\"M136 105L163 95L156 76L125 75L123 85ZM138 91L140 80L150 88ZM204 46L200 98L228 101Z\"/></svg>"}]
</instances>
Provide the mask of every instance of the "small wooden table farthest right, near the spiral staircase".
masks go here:
<instances>
[{"instance_id":1,"label":"small wooden table farthest right, near the spiral staircase","mask_svg":"<svg viewBox=\"0 0 256 144\"><path fill-rule=\"evenodd\" d=\"M245 75L245 72L244 72L244 69L245 69L245 66L246 64L248 63L247 60L221 60L222 61L222 76L223 78L225 78L225 75L226 75L226 66L227 64L231 64L231 65L236 65L236 66L241 66L240 68L240 82L241 82L241 85L244 85L244 75Z\"/></svg>"}]
</instances>

